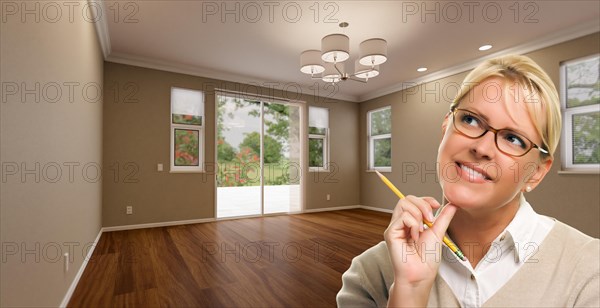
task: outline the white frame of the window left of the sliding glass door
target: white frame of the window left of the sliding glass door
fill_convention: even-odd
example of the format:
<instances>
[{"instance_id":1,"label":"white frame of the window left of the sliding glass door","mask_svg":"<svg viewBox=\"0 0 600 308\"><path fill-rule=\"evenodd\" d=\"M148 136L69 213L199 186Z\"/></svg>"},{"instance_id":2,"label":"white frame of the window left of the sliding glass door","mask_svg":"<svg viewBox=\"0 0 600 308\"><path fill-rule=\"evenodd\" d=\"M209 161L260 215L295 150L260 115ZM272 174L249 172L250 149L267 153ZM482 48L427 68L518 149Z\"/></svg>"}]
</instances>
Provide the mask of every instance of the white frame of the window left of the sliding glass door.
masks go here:
<instances>
[{"instance_id":1,"label":"white frame of the window left of the sliding glass door","mask_svg":"<svg viewBox=\"0 0 600 308\"><path fill-rule=\"evenodd\" d=\"M187 91L195 91L202 94L202 102L201 102L201 110L202 110L202 121L200 125L191 125L191 124L178 124L173 123L173 90L181 89ZM197 89L189 89L182 87L171 87L170 90L170 112L169 112L169 123L170 123L170 173L202 173L204 172L204 132L205 132L205 124L206 124L206 95L204 91ZM175 165L175 130L192 130L198 132L198 166L176 166Z\"/></svg>"}]
</instances>

